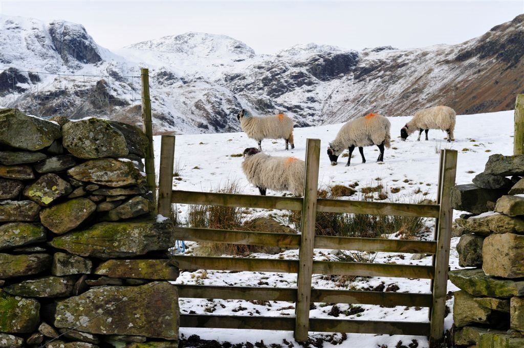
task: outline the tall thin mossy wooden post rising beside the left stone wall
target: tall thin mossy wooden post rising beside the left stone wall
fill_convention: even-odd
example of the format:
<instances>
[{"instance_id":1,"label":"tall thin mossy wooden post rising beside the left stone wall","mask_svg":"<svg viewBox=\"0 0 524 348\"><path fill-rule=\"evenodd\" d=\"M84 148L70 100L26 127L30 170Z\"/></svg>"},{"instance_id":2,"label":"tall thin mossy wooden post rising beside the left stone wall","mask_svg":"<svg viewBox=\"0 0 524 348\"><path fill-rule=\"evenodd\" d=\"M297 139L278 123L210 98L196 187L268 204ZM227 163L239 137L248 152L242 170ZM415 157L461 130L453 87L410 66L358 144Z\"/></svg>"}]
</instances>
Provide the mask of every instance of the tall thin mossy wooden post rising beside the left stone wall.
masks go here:
<instances>
[{"instance_id":1,"label":"tall thin mossy wooden post rising beside the left stone wall","mask_svg":"<svg viewBox=\"0 0 524 348\"><path fill-rule=\"evenodd\" d=\"M141 68L142 81L142 130L146 133L148 146L146 149L146 180L149 190L153 193L153 203L157 201L157 184L155 179L155 154L153 150L153 130L151 121L151 98L149 96L149 69ZM155 210L157 206L155 205Z\"/></svg>"}]
</instances>

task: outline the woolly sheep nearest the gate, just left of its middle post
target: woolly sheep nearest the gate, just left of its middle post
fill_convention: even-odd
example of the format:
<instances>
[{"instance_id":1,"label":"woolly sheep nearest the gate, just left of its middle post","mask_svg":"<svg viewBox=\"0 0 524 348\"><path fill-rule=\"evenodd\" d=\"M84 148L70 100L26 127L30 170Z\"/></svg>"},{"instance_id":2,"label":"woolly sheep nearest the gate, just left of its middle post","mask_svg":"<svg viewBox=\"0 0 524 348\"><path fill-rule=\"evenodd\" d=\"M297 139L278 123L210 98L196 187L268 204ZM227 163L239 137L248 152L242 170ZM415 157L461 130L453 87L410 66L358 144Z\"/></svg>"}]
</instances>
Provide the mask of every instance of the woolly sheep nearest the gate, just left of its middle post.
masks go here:
<instances>
[{"instance_id":1,"label":"woolly sheep nearest the gate, just left of its middle post","mask_svg":"<svg viewBox=\"0 0 524 348\"><path fill-rule=\"evenodd\" d=\"M242 171L262 196L266 195L268 188L289 191L297 197L303 195L305 162L297 158L273 157L256 148L247 148L244 150Z\"/></svg>"}]
</instances>

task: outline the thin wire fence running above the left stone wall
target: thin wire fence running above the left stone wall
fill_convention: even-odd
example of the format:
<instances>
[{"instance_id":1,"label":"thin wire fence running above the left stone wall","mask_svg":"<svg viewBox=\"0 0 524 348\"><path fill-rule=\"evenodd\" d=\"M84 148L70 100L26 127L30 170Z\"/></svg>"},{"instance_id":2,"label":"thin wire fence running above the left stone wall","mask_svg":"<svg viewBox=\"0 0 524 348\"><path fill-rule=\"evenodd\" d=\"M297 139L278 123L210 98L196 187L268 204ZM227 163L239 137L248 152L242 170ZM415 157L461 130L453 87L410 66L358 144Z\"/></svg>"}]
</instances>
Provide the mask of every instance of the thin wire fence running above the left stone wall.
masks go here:
<instances>
[{"instance_id":1,"label":"thin wire fence running above the left stone wall","mask_svg":"<svg viewBox=\"0 0 524 348\"><path fill-rule=\"evenodd\" d=\"M58 74L8 68L0 71L0 107L41 118L111 117L141 105L140 75Z\"/></svg>"}]
</instances>

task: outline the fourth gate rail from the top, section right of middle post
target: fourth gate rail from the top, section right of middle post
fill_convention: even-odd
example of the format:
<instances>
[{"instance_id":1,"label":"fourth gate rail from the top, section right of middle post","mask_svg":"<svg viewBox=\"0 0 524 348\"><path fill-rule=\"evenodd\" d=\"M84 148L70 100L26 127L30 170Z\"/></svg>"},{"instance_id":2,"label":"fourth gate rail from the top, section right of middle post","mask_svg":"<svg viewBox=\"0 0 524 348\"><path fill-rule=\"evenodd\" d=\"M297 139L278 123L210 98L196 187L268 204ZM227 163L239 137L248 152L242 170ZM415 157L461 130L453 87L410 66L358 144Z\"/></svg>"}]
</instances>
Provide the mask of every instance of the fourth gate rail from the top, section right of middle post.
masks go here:
<instances>
[{"instance_id":1,"label":"fourth gate rail from the top, section right of middle post","mask_svg":"<svg viewBox=\"0 0 524 348\"><path fill-rule=\"evenodd\" d=\"M336 304L431 307L431 294L385 293L384 291L311 290L311 302Z\"/></svg>"}]
</instances>

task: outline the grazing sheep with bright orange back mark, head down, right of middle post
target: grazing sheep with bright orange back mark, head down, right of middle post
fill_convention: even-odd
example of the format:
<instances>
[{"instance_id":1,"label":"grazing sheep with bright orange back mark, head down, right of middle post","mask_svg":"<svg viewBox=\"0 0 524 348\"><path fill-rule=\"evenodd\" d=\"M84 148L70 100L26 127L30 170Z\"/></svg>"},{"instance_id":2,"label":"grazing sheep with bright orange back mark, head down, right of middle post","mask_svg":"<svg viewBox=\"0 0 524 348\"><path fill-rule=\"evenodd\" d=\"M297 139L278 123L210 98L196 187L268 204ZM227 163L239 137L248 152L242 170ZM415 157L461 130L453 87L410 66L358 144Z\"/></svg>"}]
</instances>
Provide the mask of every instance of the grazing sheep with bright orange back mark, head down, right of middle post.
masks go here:
<instances>
[{"instance_id":1,"label":"grazing sheep with bright orange back mark, head down, right of middle post","mask_svg":"<svg viewBox=\"0 0 524 348\"><path fill-rule=\"evenodd\" d=\"M379 114L368 114L346 122L336 134L335 140L330 142L328 156L332 165L336 165L339 155L348 148L350 155L347 158L346 167L350 165L351 154L355 147L362 156L362 163L366 163L364 158L365 146L377 145L380 150L377 162L384 161L384 147L389 148L391 124L389 120Z\"/></svg>"}]
</instances>

